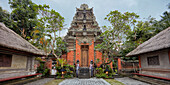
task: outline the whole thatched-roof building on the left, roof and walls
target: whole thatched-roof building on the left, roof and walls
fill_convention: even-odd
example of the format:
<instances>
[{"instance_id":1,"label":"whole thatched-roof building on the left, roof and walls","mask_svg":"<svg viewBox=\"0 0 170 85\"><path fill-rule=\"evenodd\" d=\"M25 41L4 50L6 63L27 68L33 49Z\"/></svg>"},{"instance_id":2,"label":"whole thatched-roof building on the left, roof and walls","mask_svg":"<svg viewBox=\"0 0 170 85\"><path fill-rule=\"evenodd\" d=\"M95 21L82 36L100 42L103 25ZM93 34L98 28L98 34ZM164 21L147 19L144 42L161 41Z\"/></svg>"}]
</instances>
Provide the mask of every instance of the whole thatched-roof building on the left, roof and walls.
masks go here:
<instances>
[{"instance_id":1,"label":"whole thatched-roof building on the left, roof and walls","mask_svg":"<svg viewBox=\"0 0 170 85\"><path fill-rule=\"evenodd\" d=\"M35 58L44 55L44 51L0 23L0 82L36 75Z\"/></svg>"}]
</instances>

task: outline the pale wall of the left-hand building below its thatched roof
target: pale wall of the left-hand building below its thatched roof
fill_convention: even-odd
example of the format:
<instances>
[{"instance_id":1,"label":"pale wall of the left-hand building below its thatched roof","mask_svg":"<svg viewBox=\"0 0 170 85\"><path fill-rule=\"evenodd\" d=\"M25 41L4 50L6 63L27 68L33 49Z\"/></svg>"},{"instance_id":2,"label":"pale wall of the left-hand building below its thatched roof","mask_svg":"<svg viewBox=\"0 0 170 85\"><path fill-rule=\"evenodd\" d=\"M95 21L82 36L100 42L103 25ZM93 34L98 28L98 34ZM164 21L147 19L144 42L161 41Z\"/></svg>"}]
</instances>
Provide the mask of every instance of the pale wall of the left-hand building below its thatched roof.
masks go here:
<instances>
[{"instance_id":1,"label":"pale wall of the left-hand building below its thatched roof","mask_svg":"<svg viewBox=\"0 0 170 85\"><path fill-rule=\"evenodd\" d=\"M0 67L0 79L35 74L33 56L12 55L11 67Z\"/></svg>"}]
</instances>

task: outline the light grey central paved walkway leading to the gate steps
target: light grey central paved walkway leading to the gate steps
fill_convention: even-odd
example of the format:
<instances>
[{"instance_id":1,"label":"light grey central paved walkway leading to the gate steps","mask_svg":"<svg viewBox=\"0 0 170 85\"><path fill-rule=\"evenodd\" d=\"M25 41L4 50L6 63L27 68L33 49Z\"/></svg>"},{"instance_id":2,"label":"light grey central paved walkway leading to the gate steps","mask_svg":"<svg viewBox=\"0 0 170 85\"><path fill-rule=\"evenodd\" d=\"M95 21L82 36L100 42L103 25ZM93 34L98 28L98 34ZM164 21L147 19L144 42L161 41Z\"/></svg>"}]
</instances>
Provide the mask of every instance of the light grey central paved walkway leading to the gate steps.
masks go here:
<instances>
[{"instance_id":1,"label":"light grey central paved walkway leading to the gate steps","mask_svg":"<svg viewBox=\"0 0 170 85\"><path fill-rule=\"evenodd\" d=\"M96 79L96 78L90 78L90 79L66 79L59 83L59 85L110 85L108 82L106 82L104 79Z\"/></svg>"}]
</instances>

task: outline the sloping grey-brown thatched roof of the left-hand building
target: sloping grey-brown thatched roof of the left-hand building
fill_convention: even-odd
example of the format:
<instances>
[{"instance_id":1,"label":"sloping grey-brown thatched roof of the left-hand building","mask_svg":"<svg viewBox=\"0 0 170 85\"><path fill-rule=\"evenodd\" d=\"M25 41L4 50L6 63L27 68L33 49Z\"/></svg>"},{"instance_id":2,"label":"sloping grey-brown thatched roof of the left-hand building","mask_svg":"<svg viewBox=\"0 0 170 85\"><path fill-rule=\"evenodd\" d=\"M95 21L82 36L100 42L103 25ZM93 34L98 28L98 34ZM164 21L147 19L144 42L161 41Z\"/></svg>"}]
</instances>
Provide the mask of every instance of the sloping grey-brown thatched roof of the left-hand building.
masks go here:
<instances>
[{"instance_id":1,"label":"sloping grey-brown thatched roof of the left-hand building","mask_svg":"<svg viewBox=\"0 0 170 85\"><path fill-rule=\"evenodd\" d=\"M0 46L36 55L45 55L43 51L34 47L32 44L30 44L11 29L7 28L2 23L0 23Z\"/></svg>"}]
</instances>

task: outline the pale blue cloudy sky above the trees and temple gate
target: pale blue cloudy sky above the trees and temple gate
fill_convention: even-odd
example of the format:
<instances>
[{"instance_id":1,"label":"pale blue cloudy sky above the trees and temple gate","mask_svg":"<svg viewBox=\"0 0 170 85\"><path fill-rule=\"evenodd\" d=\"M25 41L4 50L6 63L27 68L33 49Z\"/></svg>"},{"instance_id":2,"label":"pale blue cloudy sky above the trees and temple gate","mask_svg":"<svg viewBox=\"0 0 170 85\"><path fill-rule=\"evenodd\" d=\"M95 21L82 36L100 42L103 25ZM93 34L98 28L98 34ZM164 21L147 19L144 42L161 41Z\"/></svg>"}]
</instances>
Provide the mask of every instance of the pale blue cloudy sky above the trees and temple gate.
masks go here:
<instances>
[{"instance_id":1,"label":"pale blue cloudy sky above the trees and temple gate","mask_svg":"<svg viewBox=\"0 0 170 85\"><path fill-rule=\"evenodd\" d=\"M163 12L168 10L170 0L32 0L36 4L47 4L51 9L56 10L65 18L65 28L69 28L76 13L76 7L80 8L81 4L88 4L93 7L94 15L99 26L110 25L104 20L110 11L118 10L121 13L134 12L140 16L140 20L152 16L156 20L161 19ZM0 6L9 12L8 0L0 0ZM61 32L61 36L67 34L67 29Z\"/></svg>"}]
</instances>

